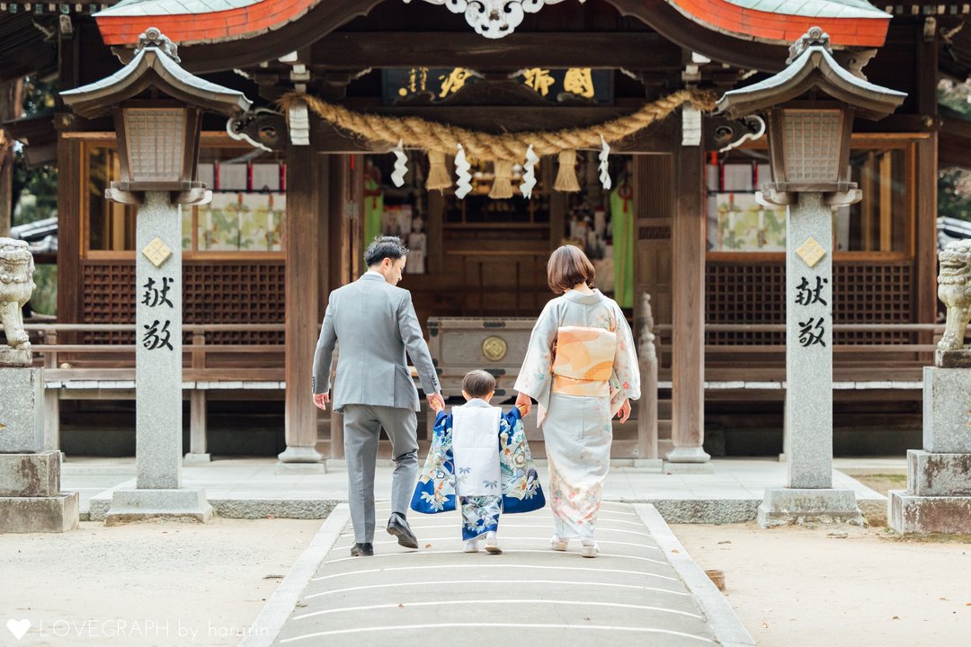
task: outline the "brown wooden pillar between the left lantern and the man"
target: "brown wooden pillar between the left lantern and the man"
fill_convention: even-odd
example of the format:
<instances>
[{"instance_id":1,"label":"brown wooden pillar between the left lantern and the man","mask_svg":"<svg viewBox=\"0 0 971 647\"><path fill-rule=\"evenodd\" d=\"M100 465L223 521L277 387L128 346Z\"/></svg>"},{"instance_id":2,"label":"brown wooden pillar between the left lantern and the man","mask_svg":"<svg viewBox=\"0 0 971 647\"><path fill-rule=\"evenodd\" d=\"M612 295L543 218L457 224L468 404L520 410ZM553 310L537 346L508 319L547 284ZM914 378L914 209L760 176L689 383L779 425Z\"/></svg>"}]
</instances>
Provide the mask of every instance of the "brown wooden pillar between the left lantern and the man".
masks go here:
<instances>
[{"instance_id":1,"label":"brown wooden pillar between the left lantern and the man","mask_svg":"<svg viewBox=\"0 0 971 647\"><path fill-rule=\"evenodd\" d=\"M316 463L313 398L318 340L318 155L312 146L286 149L285 463Z\"/></svg>"}]
</instances>

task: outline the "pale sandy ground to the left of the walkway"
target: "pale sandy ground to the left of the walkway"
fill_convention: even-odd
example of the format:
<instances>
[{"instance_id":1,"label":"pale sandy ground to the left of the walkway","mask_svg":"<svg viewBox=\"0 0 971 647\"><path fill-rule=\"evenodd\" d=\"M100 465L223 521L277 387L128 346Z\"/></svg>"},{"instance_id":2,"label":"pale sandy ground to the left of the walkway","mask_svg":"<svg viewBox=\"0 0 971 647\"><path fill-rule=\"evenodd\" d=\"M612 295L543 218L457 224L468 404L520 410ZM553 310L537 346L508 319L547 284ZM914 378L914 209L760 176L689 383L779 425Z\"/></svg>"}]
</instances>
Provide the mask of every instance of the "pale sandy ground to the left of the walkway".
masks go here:
<instances>
[{"instance_id":1,"label":"pale sandy ground to the left of the walkway","mask_svg":"<svg viewBox=\"0 0 971 647\"><path fill-rule=\"evenodd\" d=\"M236 645L321 523L82 522L0 535L0 647Z\"/></svg>"}]
</instances>

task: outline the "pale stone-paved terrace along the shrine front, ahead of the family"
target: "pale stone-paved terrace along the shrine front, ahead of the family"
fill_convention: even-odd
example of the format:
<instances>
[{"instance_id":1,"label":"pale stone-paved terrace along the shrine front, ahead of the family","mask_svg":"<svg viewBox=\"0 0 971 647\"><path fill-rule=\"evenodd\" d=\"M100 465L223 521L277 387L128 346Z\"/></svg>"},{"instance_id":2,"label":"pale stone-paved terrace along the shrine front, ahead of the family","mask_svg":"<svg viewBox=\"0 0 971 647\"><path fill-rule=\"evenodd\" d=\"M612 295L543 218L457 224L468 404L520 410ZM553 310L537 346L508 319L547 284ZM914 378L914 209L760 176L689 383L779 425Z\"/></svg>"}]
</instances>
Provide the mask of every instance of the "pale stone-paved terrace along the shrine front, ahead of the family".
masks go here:
<instances>
[{"instance_id":1,"label":"pale stone-paved terrace along the shrine front, ahead of the family","mask_svg":"<svg viewBox=\"0 0 971 647\"><path fill-rule=\"evenodd\" d=\"M862 485L839 468L906 473L906 459L837 459L833 487L856 493L863 513L886 514L886 497ZM652 503L669 523L741 523L755 518L766 488L786 484L785 463L769 459L717 459L711 474L663 474L654 469L613 466L604 484L605 501ZM546 463L537 461L546 482ZM328 462L327 473L280 471L270 458L216 460L183 469L184 487L201 487L220 516L227 518L291 517L323 519L347 501L347 470ZM375 494L391 490L391 467L380 462ZM62 488L81 493L83 519L103 520L112 490L135 487L135 459L69 458L62 466Z\"/></svg>"}]
</instances>

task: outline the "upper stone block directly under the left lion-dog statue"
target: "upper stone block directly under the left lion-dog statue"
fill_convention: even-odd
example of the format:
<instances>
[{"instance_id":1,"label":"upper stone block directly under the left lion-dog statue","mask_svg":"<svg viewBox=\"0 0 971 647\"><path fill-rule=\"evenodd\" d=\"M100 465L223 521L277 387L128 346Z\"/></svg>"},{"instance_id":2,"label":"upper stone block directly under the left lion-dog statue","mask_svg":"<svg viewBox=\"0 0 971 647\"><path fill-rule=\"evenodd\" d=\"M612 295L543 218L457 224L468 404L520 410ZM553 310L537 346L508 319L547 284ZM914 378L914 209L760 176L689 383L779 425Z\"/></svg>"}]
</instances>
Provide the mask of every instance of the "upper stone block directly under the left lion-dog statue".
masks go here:
<instances>
[{"instance_id":1,"label":"upper stone block directly under the left lion-dog statue","mask_svg":"<svg viewBox=\"0 0 971 647\"><path fill-rule=\"evenodd\" d=\"M0 452L44 449L44 369L0 367Z\"/></svg>"}]
</instances>

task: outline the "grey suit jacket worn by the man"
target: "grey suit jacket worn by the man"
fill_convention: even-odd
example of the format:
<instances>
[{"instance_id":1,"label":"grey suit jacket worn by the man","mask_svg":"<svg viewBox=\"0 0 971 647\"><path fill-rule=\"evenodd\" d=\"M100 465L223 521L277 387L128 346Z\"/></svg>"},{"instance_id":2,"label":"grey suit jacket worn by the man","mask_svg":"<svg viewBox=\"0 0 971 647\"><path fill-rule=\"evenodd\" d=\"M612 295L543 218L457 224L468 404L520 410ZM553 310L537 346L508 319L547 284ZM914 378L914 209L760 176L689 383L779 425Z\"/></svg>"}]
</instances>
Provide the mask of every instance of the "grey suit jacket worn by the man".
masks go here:
<instances>
[{"instance_id":1,"label":"grey suit jacket worn by the man","mask_svg":"<svg viewBox=\"0 0 971 647\"><path fill-rule=\"evenodd\" d=\"M408 357L425 394L441 390L428 345L408 290L384 277L363 275L330 293L314 354L314 393L330 390L334 345L337 376L332 405L374 404L419 410L419 392L408 371Z\"/></svg>"}]
</instances>

